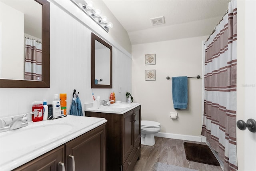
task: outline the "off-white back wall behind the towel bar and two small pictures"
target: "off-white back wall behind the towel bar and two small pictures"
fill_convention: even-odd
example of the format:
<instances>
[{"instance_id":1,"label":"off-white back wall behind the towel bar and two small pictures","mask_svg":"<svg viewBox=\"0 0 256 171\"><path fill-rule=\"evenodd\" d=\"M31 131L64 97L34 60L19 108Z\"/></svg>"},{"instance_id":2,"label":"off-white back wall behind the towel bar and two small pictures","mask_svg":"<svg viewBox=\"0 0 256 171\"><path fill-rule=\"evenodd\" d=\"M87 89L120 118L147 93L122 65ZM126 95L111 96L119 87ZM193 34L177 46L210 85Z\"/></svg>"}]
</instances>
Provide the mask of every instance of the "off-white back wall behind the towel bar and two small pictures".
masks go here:
<instances>
[{"instance_id":1,"label":"off-white back wall behind the towel bar and two small pictures","mask_svg":"<svg viewBox=\"0 0 256 171\"><path fill-rule=\"evenodd\" d=\"M132 96L141 103L142 120L161 123L162 133L200 136L202 129L202 79L188 79L188 109L172 103L172 80L166 77L202 76L202 41L208 36L132 45ZM156 54L155 65L145 65L145 54ZM156 70L156 81L145 81L145 70Z\"/></svg>"}]
</instances>

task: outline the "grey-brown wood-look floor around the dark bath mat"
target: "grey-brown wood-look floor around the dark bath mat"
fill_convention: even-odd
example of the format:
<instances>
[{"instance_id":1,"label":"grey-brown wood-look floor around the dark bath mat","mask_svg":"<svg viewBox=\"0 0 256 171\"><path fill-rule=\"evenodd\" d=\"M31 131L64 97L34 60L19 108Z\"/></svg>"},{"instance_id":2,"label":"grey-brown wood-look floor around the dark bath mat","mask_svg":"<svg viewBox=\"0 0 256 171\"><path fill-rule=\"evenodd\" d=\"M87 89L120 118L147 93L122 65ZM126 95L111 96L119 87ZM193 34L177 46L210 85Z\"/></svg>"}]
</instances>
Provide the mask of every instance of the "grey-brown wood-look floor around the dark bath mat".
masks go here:
<instances>
[{"instance_id":1,"label":"grey-brown wood-look floor around the dark bath mat","mask_svg":"<svg viewBox=\"0 0 256 171\"><path fill-rule=\"evenodd\" d=\"M137 161L133 171L152 171L156 162L187 167L198 171L222 171L220 166L197 163L186 159L184 142L205 143L162 137L155 137L155 141L156 144L154 146L141 145L141 157Z\"/></svg>"}]
</instances>

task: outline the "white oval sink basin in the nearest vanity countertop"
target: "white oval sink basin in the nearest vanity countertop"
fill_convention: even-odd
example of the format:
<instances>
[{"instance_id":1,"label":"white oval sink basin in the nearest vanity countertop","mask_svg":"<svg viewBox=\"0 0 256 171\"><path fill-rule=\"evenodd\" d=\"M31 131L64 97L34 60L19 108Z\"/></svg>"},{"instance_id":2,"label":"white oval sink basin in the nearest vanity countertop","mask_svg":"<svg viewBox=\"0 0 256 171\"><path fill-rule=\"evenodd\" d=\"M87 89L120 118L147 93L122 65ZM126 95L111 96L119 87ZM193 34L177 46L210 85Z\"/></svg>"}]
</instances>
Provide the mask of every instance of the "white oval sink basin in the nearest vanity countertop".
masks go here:
<instances>
[{"instance_id":1,"label":"white oval sink basin in the nearest vanity countertop","mask_svg":"<svg viewBox=\"0 0 256 171\"><path fill-rule=\"evenodd\" d=\"M69 124L44 124L36 127L23 127L1 134L1 151L4 147L27 148L49 141L72 129ZM3 147L3 148L2 148Z\"/></svg>"}]
</instances>

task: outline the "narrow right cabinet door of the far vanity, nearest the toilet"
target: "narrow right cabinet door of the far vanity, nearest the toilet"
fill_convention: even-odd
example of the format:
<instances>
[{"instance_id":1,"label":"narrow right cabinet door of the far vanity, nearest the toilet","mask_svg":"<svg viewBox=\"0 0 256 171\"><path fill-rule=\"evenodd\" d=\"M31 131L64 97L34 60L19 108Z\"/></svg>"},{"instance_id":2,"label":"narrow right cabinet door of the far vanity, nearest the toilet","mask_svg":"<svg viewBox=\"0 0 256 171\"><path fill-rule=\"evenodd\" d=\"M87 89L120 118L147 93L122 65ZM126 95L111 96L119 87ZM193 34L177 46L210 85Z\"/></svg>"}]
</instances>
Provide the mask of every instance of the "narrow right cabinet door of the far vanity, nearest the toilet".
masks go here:
<instances>
[{"instance_id":1,"label":"narrow right cabinet door of the far vanity, nearest the toilet","mask_svg":"<svg viewBox=\"0 0 256 171\"><path fill-rule=\"evenodd\" d=\"M134 109L134 143L140 142L140 106Z\"/></svg>"}]
</instances>

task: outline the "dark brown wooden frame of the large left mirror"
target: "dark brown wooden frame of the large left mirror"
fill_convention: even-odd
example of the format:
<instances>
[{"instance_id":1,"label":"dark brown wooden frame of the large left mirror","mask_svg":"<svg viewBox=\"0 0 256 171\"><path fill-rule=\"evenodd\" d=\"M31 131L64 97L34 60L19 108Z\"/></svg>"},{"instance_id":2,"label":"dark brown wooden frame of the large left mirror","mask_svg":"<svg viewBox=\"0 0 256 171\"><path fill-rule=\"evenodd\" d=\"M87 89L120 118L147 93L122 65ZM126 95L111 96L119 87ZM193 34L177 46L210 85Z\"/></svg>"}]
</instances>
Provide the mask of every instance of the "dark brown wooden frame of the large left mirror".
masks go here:
<instances>
[{"instance_id":1,"label":"dark brown wooden frame of the large left mirror","mask_svg":"<svg viewBox=\"0 0 256 171\"><path fill-rule=\"evenodd\" d=\"M0 88L50 88L50 2L42 5L42 81L0 79Z\"/></svg>"}]
</instances>

